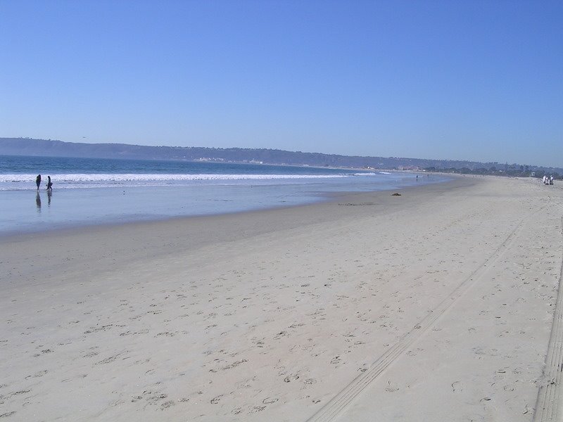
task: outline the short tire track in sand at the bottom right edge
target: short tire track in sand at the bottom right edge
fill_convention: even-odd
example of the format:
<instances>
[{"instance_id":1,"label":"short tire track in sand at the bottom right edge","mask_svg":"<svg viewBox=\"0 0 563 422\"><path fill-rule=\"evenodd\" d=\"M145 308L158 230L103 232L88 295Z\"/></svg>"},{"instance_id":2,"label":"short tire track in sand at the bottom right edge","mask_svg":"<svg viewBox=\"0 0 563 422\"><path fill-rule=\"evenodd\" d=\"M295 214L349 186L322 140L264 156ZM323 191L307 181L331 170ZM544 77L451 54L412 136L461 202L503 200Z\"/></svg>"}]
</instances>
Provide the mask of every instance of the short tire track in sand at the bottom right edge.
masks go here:
<instances>
[{"instance_id":1,"label":"short tire track in sand at the bottom right edge","mask_svg":"<svg viewBox=\"0 0 563 422\"><path fill-rule=\"evenodd\" d=\"M563 217L561 219L563 236ZM553 314L548 357L545 359L543 381L538 391L534 422L563 421L562 371L563 371L563 257L559 273L557 304Z\"/></svg>"}]
</instances>

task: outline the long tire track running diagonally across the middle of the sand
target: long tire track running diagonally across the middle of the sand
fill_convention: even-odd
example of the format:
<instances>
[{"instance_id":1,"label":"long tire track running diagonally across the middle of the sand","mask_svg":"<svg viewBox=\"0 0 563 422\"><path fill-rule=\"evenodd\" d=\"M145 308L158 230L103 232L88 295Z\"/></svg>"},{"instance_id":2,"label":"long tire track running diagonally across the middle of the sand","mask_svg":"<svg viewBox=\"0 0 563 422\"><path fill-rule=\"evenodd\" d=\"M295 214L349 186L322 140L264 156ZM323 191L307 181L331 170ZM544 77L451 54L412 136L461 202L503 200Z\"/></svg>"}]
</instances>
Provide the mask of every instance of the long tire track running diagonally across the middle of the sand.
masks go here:
<instances>
[{"instance_id":1,"label":"long tire track running diagonally across the middle of the sand","mask_svg":"<svg viewBox=\"0 0 563 422\"><path fill-rule=\"evenodd\" d=\"M543 210L542 207L541 210ZM469 288L471 288L476 281L481 279L483 275L486 274L489 268L500 260L502 255L509 249L510 245L514 243L514 239L517 238L517 234L521 231L524 222L536 215L536 212L531 213L527 217L520 220L514 230L505 238L505 240L500 244L500 246L493 252L493 254L488 257L483 264L481 264L477 269L475 269L472 274L470 274L467 279L464 279L462 283L453 290L447 298L445 298L436 308L431 309L429 313L416 324L411 331L403 335L396 345L389 348L384 354L379 357L367 371L362 373L360 376L356 377L350 384L346 385L343 390L341 390L335 397L333 397L327 404L325 404L319 411L308 418L307 422L329 422L334 421L341 412L348 407L348 404L358 396L369 384L371 384L385 369L393 363L400 354L409 347L415 340L422 337L426 331L429 330L434 322L440 316L442 316L446 310L448 310L457 299L459 299ZM558 299L559 300L559 299ZM557 305L559 306L559 304ZM559 338L559 346L562 339ZM562 348L559 347L559 354L561 354ZM561 366L559 366L559 376L561 375ZM558 393L559 394L559 390Z\"/></svg>"}]
</instances>

